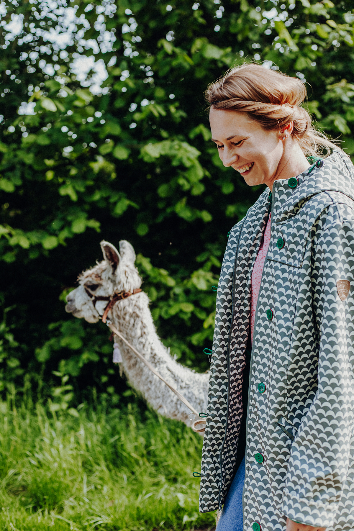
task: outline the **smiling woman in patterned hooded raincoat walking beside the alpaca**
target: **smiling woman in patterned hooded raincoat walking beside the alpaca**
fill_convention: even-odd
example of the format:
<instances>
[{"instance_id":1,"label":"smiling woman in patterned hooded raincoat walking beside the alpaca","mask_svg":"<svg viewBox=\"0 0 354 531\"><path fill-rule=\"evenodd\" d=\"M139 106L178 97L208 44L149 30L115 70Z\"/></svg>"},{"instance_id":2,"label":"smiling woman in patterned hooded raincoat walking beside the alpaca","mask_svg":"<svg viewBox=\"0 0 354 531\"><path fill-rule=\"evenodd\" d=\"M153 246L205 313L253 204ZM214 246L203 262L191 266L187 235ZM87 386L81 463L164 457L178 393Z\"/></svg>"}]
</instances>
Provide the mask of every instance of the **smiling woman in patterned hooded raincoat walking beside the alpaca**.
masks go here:
<instances>
[{"instance_id":1,"label":"smiling woman in patterned hooded raincoat walking beside the alpaca","mask_svg":"<svg viewBox=\"0 0 354 531\"><path fill-rule=\"evenodd\" d=\"M255 64L206 91L223 164L266 185L218 287L200 493L217 531L354 529L354 168L305 97Z\"/></svg>"}]
</instances>

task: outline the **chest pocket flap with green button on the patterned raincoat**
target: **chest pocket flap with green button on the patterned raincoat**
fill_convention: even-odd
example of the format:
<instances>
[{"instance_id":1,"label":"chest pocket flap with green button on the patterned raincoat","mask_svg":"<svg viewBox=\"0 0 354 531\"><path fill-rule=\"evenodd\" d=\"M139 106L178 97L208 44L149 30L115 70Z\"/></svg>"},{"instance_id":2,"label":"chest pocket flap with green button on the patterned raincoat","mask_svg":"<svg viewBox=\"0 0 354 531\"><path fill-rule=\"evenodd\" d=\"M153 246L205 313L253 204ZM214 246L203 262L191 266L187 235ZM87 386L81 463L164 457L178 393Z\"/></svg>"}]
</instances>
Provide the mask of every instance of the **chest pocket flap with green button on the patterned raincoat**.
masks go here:
<instances>
[{"instance_id":1,"label":"chest pocket flap with green button on the patterned raincoat","mask_svg":"<svg viewBox=\"0 0 354 531\"><path fill-rule=\"evenodd\" d=\"M272 226L267 259L300 268L303 264L308 227L300 221L278 223Z\"/></svg>"}]
</instances>

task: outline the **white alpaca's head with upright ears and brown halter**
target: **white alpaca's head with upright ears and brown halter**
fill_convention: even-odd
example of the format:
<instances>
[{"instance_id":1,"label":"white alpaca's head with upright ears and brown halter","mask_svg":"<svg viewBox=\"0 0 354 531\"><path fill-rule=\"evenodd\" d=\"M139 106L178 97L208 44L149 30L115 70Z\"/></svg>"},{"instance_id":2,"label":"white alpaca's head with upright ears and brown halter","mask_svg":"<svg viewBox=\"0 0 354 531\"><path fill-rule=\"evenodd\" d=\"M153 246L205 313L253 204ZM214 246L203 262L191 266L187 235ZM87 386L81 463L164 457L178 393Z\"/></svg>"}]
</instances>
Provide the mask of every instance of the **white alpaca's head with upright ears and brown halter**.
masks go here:
<instances>
[{"instance_id":1,"label":"white alpaca's head with upright ears and brown halter","mask_svg":"<svg viewBox=\"0 0 354 531\"><path fill-rule=\"evenodd\" d=\"M133 246L122 239L119 253L114 245L104 240L101 242L103 261L79 276L79 287L66 296L65 311L75 317L84 318L89 323L96 323L103 315L107 298L119 292L131 292L141 286L137 271ZM96 297L96 298L95 298Z\"/></svg>"}]
</instances>

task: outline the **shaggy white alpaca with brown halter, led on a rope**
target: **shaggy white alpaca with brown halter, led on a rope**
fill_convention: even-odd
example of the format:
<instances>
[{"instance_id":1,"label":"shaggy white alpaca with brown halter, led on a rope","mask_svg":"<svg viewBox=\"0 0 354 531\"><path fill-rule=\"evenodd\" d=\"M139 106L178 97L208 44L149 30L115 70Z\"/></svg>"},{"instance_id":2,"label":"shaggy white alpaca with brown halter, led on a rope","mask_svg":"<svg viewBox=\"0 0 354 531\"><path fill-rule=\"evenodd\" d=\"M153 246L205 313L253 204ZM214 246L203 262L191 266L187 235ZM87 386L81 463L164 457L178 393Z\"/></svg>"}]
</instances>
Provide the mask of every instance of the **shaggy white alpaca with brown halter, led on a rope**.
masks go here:
<instances>
[{"instance_id":1,"label":"shaggy white alpaca with brown halter, led on a rope","mask_svg":"<svg viewBox=\"0 0 354 531\"><path fill-rule=\"evenodd\" d=\"M149 310L148 295L139 290L142 279L134 265L133 246L122 240L119 242L118 253L116 247L109 242L102 241L100 245L103 261L79 276L79 287L66 297L66 312L84 318L89 323L96 323L105 313L111 297L122 292L125 292L125 295L128 292L132 294L115 304L110 304L108 318L197 412L205 413L209 374L199 374L180 365L169 355L169 349L162 344ZM115 336L115 341L122 353L120 367L132 387L139 391L159 414L178 419L191 426L193 418L189 417L193 415L187 406L133 354L122 340Z\"/></svg>"}]
</instances>

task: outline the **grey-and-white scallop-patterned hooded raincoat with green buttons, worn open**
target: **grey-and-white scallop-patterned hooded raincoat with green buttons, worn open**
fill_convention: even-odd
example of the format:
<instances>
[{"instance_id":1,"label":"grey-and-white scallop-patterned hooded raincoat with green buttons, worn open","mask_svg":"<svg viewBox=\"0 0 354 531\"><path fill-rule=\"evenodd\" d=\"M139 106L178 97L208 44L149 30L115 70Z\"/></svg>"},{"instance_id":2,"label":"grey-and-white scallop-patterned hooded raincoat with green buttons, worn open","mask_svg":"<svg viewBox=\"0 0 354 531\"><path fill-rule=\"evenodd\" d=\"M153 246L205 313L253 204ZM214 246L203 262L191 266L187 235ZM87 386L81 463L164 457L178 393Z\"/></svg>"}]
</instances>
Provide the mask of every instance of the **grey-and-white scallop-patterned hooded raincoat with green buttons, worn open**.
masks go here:
<instances>
[{"instance_id":1,"label":"grey-and-white scallop-patterned hooded raincoat with green buttons, worn open","mask_svg":"<svg viewBox=\"0 0 354 531\"><path fill-rule=\"evenodd\" d=\"M222 263L201 512L221 508L235 474L251 276L268 207L266 190L232 228ZM244 529L284 531L288 516L327 531L349 531L354 529L350 159L334 150L321 168L275 181L271 209L249 375Z\"/></svg>"}]
</instances>

